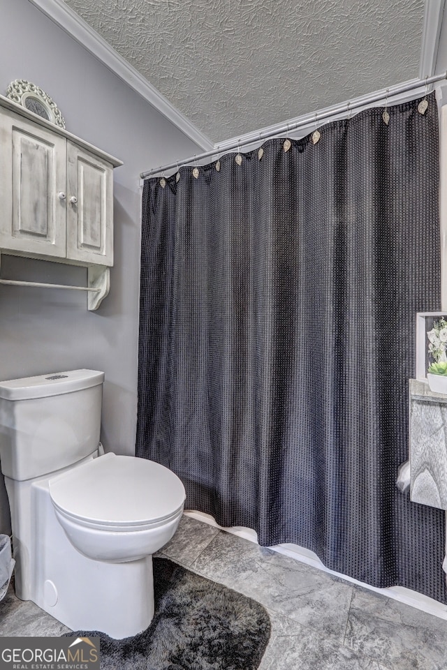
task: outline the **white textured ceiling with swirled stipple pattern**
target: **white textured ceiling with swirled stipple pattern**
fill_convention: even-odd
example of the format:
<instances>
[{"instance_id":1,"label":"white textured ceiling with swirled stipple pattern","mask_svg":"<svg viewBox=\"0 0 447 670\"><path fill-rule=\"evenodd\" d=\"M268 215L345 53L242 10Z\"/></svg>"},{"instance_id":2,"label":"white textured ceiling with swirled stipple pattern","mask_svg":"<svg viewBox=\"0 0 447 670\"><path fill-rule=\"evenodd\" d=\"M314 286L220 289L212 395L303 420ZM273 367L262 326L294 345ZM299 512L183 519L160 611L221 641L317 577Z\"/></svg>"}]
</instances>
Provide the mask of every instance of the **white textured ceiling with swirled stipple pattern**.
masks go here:
<instances>
[{"instance_id":1,"label":"white textured ceiling with swirled stipple pattern","mask_svg":"<svg viewBox=\"0 0 447 670\"><path fill-rule=\"evenodd\" d=\"M213 142L418 77L424 0L65 0Z\"/></svg>"}]
</instances>

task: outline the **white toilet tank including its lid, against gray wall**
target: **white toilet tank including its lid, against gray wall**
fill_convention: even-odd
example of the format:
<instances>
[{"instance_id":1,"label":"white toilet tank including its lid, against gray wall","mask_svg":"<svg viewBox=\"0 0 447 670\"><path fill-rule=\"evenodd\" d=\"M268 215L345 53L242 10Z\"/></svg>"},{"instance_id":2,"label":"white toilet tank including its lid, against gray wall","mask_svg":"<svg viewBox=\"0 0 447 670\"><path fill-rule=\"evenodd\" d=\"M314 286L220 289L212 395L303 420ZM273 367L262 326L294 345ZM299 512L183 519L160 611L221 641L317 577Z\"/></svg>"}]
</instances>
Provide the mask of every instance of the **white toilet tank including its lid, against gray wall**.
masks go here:
<instances>
[{"instance_id":1,"label":"white toilet tank including its lid, against gray wall","mask_svg":"<svg viewBox=\"0 0 447 670\"><path fill-rule=\"evenodd\" d=\"M6 477L47 475L98 447L104 373L71 370L0 382L0 461Z\"/></svg>"}]
</instances>

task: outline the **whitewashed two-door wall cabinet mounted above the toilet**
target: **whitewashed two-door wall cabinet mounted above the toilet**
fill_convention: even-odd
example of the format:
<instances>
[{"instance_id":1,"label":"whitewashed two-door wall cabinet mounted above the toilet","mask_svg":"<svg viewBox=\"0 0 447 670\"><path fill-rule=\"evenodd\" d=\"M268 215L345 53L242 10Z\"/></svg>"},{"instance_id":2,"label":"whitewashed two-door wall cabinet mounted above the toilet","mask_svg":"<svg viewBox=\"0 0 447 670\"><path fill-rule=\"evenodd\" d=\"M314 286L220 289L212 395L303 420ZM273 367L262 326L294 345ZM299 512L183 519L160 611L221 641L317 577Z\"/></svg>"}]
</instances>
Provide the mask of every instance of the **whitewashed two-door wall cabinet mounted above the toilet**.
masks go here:
<instances>
[{"instance_id":1,"label":"whitewashed two-door wall cabinet mounted above the toilet","mask_svg":"<svg viewBox=\"0 0 447 670\"><path fill-rule=\"evenodd\" d=\"M0 147L0 252L87 267L97 308L113 265L112 173L122 162L2 96Z\"/></svg>"}]
</instances>

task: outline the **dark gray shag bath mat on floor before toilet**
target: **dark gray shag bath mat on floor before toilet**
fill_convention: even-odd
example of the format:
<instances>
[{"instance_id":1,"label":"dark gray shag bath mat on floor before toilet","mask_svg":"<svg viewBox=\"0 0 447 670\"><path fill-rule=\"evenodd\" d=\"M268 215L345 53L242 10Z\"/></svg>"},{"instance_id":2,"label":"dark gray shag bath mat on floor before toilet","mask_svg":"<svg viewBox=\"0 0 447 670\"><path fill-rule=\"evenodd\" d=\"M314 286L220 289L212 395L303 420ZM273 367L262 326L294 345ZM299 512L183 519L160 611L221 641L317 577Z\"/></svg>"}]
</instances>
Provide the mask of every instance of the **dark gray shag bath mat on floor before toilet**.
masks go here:
<instances>
[{"instance_id":1,"label":"dark gray shag bath mat on floor before toilet","mask_svg":"<svg viewBox=\"0 0 447 670\"><path fill-rule=\"evenodd\" d=\"M263 606L226 586L154 558L155 615L124 640L101 632L102 670L255 670L270 638Z\"/></svg>"}]
</instances>

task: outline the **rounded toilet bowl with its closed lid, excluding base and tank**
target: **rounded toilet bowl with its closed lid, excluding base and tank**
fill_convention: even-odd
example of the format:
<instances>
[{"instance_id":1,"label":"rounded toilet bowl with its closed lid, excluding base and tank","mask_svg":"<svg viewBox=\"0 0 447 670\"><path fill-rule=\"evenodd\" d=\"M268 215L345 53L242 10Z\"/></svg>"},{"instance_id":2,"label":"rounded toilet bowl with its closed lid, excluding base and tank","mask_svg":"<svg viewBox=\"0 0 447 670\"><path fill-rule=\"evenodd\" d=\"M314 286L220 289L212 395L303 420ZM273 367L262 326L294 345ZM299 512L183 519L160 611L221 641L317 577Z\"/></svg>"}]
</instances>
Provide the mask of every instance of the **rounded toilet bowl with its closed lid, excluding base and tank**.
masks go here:
<instances>
[{"instance_id":1,"label":"rounded toilet bowl with its closed lid, excluding base and tank","mask_svg":"<svg viewBox=\"0 0 447 670\"><path fill-rule=\"evenodd\" d=\"M48 486L75 549L112 563L138 560L169 542L185 498L182 482L167 468L115 454L52 477Z\"/></svg>"}]
</instances>

